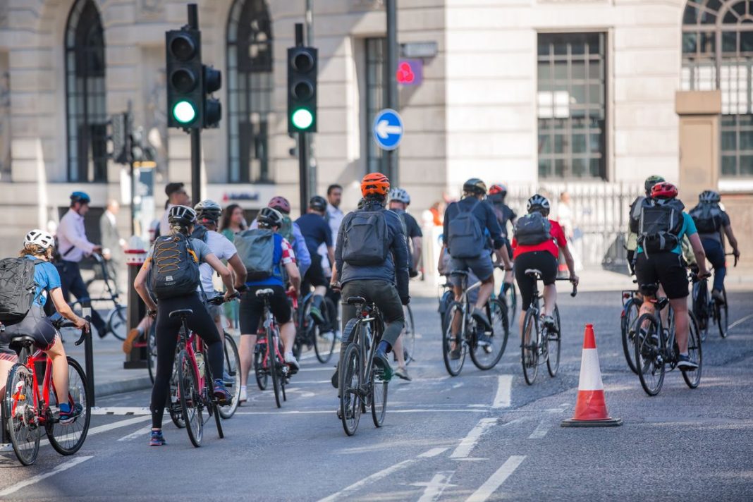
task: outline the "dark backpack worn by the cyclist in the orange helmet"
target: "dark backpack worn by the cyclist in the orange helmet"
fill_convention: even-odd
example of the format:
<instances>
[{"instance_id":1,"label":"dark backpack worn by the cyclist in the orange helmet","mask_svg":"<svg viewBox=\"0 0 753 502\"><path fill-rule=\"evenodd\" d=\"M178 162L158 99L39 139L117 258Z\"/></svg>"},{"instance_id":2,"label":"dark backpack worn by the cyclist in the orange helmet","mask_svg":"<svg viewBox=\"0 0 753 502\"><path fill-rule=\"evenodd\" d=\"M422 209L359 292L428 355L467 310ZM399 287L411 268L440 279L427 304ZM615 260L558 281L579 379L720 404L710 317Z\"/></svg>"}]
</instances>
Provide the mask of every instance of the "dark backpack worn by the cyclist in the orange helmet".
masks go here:
<instances>
[{"instance_id":1,"label":"dark backpack worn by the cyclist in the orange helmet","mask_svg":"<svg viewBox=\"0 0 753 502\"><path fill-rule=\"evenodd\" d=\"M343 261L349 265L381 265L389 253L386 209L355 211L343 220Z\"/></svg>"}]
</instances>

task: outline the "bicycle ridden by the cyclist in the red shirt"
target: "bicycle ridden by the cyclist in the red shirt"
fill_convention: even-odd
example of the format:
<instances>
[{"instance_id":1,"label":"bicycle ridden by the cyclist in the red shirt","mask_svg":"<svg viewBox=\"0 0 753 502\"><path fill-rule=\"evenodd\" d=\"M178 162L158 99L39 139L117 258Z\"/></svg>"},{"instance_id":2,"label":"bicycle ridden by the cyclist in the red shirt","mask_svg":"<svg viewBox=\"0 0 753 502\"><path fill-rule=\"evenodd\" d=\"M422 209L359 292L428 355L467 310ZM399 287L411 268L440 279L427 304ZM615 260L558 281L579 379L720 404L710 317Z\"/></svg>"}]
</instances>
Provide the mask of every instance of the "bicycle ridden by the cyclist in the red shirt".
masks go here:
<instances>
[{"instance_id":1,"label":"bicycle ridden by the cyclist in the red shirt","mask_svg":"<svg viewBox=\"0 0 753 502\"><path fill-rule=\"evenodd\" d=\"M528 385L533 385L538 374L539 358L547 362L547 371L549 376L554 378L559 370L559 351L562 341L562 324L559 321L559 308L554 306L554 330L550 330L541 322L541 307L539 300L544 296L538 292L538 281L541 280L541 271L538 269L527 269L526 275L535 279L533 284L533 296L531 305L526 310L526 317L523 318L523 333L520 339L520 350L522 352L521 364L523 365L523 377ZM556 278L556 281L569 281L569 278ZM571 297L578 294L578 285L572 285ZM533 330L536 336L533 336ZM535 338L535 340L534 340ZM526 340L529 342L526 343Z\"/></svg>"}]
</instances>

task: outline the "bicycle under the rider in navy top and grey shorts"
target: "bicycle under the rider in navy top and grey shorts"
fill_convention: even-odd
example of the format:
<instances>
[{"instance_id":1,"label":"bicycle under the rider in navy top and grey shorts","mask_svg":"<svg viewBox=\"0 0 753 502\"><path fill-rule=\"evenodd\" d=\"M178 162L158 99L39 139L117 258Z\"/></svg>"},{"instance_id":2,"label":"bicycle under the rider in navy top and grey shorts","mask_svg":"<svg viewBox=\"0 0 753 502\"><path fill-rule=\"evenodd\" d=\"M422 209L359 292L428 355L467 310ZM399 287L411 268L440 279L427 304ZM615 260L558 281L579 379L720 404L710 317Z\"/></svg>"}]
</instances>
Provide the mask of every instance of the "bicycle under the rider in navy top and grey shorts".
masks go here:
<instances>
[{"instance_id":1,"label":"bicycle under the rider in navy top and grey shorts","mask_svg":"<svg viewBox=\"0 0 753 502\"><path fill-rule=\"evenodd\" d=\"M491 330L483 329L480 324L471 316L474 306L468 298L468 293L476 288L480 288L481 281L477 281L471 286L466 286L468 281L468 272L465 270L453 270L450 275L460 278L462 284L462 296L459 301L453 301L450 308L447 309L446 327L442 339L442 356L444 358L444 367L450 376L458 376L465 363L465 354L470 352L471 361L479 370L491 370L505 353L505 347L508 345L509 322L507 307L497 298L489 298L486 302L486 318L492 324ZM453 330L456 331L453 334ZM479 344L479 330L489 336L489 345L482 346ZM454 347L453 347L454 345ZM459 347L459 357L453 359L453 348Z\"/></svg>"}]
</instances>

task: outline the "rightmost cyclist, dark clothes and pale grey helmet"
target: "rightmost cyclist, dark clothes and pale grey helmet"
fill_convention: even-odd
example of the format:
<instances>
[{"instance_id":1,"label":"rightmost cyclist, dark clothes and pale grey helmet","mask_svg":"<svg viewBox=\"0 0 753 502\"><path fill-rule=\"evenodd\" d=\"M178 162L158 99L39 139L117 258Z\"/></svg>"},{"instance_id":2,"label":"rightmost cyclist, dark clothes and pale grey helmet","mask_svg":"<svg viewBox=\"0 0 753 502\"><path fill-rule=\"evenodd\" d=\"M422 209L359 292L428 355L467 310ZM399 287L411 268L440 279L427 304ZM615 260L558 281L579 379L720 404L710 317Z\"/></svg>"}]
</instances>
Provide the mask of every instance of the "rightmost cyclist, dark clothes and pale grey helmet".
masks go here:
<instances>
[{"instance_id":1,"label":"rightmost cyclist, dark clothes and pale grey helmet","mask_svg":"<svg viewBox=\"0 0 753 502\"><path fill-rule=\"evenodd\" d=\"M727 275L727 264L724 263L724 241L721 231L732 245L732 253L736 258L740 256L737 239L732 231L732 224L727 212L719 207L721 196L713 190L706 190L698 196L698 205L691 209L690 215L696 224L698 236L703 245L703 252L714 267L714 287L711 296L719 303L724 303L721 290L724 288L724 276Z\"/></svg>"}]
</instances>

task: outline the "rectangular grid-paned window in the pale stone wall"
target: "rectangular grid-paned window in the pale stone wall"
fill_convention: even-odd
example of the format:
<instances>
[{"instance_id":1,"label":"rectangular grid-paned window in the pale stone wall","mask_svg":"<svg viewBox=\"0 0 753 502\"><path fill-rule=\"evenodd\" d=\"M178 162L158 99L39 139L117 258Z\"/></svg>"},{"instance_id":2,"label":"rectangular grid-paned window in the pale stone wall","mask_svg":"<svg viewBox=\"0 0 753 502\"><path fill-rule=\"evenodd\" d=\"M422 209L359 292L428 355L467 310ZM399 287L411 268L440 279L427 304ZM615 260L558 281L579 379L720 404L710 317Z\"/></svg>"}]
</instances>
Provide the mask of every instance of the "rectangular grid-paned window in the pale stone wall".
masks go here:
<instances>
[{"instance_id":1,"label":"rectangular grid-paned window in the pale stone wall","mask_svg":"<svg viewBox=\"0 0 753 502\"><path fill-rule=\"evenodd\" d=\"M606 178L605 38L538 35L540 178Z\"/></svg>"}]
</instances>

